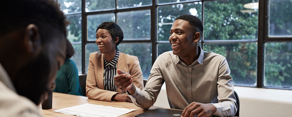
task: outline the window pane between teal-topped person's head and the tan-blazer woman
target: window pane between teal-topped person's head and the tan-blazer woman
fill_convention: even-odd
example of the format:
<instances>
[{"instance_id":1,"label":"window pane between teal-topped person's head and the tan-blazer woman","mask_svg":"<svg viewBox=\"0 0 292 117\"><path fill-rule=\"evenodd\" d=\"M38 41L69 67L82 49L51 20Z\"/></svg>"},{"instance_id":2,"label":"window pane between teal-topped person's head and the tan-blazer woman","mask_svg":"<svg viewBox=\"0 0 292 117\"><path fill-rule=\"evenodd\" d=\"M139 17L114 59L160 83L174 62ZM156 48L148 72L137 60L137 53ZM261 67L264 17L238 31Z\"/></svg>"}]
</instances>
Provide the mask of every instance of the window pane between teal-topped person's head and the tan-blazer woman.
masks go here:
<instances>
[{"instance_id":1,"label":"window pane between teal-topped person's head and the tan-blazer woman","mask_svg":"<svg viewBox=\"0 0 292 117\"><path fill-rule=\"evenodd\" d=\"M82 50L81 50L81 44L72 44L73 48L75 50L74 56L71 57L71 60L76 63L76 66L78 68L78 73L82 73Z\"/></svg>"}]
</instances>

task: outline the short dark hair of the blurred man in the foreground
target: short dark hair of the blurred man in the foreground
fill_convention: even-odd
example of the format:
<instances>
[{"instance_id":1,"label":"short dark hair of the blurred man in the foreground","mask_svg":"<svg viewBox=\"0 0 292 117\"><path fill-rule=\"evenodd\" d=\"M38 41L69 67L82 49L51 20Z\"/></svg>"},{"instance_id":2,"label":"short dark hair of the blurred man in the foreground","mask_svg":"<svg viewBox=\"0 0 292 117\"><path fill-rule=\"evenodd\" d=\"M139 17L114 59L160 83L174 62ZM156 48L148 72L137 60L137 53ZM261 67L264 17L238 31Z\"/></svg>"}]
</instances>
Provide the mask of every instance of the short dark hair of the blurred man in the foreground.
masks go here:
<instances>
[{"instance_id":1,"label":"short dark hair of the blurred man in the foreground","mask_svg":"<svg viewBox=\"0 0 292 117\"><path fill-rule=\"evenodd\" d=\"M59 32L67 37L68 21L55 0L4 0L1 1L0 11L0 36L35 24L39 28L42 44L55 36L50 33Z\"/></svg>"}]
</instances>

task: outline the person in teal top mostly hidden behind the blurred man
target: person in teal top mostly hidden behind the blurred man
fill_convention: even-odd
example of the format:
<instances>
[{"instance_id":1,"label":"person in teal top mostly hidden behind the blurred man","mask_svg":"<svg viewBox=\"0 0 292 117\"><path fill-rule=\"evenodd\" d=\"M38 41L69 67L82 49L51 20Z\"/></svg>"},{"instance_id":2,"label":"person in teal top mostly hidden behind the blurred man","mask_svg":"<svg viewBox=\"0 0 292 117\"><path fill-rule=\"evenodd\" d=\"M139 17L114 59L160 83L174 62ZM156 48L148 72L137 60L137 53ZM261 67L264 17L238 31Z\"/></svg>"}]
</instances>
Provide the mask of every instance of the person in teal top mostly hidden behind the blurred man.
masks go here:
<instances>
[{"instance_id":1,"label":"person in teal top mostly hidden behind the blurred man","mask_svg":"<svg viewBox=\"0 0 292 117\"><path fill-rule=\"evenodd\" d=\"M56 75L56 88L53 92L83 96L80 84L78 69L70 58L75 54L70 41L66 42L66 59Z\"/></svg>"}]
</instances>

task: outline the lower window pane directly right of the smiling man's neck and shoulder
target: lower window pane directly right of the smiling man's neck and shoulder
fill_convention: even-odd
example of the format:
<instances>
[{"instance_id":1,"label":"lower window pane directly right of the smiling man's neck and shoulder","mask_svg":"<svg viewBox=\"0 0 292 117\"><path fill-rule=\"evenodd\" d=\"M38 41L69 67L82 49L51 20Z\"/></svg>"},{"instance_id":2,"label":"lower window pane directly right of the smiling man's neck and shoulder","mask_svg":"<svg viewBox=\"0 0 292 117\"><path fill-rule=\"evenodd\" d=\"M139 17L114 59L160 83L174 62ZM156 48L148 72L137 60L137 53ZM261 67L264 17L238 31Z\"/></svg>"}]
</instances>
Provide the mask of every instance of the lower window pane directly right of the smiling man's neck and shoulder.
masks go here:
<instances>
[{"instance_id":1,"label":"lower window pane directly right of the smiling man's neck and shoulder","mask_svg":"<svg viewBox=\"0 0 292 117\"><path fill-rule=\"evenodd\" d=\"M204 44L204 51L226 57L234 85L256 86L256 43Z\"/></svg>"}]
</instances>

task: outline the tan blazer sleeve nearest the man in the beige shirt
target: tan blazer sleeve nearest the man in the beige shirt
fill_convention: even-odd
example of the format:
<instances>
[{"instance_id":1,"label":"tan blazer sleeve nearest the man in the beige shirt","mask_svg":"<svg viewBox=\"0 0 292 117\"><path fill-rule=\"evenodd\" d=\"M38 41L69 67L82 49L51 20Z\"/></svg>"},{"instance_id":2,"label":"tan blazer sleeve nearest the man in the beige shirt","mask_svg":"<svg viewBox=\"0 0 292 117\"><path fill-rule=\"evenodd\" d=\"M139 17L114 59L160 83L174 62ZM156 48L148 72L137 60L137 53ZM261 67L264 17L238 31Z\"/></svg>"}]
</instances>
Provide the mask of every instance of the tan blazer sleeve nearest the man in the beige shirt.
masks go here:
<instances>
[{"instance_id":1,"label":"tan blazer sleeve nearest the man in the beige shirt","mask_svg":"<svg viewBox=\"0 0 292 117\"><path fill-rule=\"evenodd\" d=\"M142 74L138 57L135 56L131 63L132 63L132 67L129 69L129 72L133 78L133 83L136 87L142 90L144 88L143 74Z\"/></svg>"}]
</instances>

